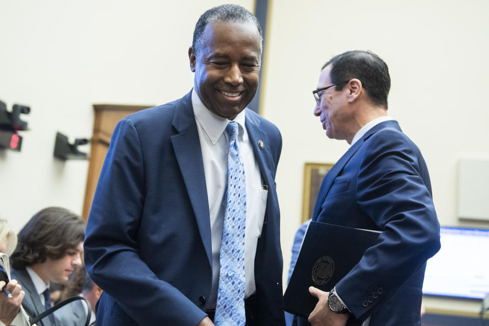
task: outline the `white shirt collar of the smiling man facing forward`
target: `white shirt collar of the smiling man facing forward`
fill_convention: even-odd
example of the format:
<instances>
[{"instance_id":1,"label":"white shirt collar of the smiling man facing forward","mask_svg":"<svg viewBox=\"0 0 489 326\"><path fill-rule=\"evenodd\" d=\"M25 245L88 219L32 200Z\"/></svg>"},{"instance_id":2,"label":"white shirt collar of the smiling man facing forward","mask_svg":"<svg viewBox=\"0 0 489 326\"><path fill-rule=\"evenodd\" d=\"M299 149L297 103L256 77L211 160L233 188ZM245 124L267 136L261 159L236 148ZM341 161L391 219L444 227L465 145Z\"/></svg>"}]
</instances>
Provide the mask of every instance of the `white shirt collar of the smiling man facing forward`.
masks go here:
<instances>
[{"instance_id":1,"label":"white shirt collar of the smiling man facing forward","mask_svg":"<svg viewBox=\"0 0 489 326\"><path fill-rule=\"evenodd\" d=\"M215 145L223 134L224 130L226 130L226 126L230 120L219 117L210 112L200 100L195 88L192 90L192 106L194 107L195 118L204 129L205 133L212 142L212 145ZM244 121L246 120L245 112L246 110L241 111L233 120L241 126L238 134L241 135L243 141L247 138L247 133L244 132L244 130L246 130L244 127Z\"/></svg>"}]
</instances>

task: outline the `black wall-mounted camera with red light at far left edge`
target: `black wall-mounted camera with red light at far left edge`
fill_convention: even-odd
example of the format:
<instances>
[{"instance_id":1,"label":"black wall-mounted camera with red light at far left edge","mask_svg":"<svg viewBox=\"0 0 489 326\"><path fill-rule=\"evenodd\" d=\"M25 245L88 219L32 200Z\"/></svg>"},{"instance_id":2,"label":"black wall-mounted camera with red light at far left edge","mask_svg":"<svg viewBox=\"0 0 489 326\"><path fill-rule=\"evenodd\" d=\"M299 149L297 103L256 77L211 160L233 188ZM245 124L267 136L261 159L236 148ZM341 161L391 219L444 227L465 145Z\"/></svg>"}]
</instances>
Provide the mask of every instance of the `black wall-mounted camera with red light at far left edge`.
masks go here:
<instances>
[{"instance_id":1,"label":"black wall-mounted camera with red light at far left edge","mask_svg":"<svg viewBox=\"0 0 489 326\"><path fill-rule=\"evenodd\" d=\"M19 152L22 145L22 137L17 131L28 130L27 122L20 119L21 114L29 114L31 108L20 104L14 104L12 111L7 111L7 105L0 101L0 149L11 149Z\"/></svg>"}]
</instances>

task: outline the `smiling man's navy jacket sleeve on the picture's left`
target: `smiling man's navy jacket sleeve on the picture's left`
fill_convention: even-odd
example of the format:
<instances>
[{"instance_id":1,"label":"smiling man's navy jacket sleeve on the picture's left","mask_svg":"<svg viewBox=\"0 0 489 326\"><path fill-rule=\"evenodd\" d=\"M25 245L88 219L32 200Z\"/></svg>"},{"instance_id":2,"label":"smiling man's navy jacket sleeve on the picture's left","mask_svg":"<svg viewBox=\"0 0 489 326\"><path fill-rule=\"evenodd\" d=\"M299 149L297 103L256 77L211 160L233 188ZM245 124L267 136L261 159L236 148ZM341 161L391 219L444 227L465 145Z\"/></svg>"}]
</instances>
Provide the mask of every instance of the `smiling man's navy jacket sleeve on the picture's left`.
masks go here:
<instances>
[{"instance_id":1,"label":"smiling man's navy jacket sleeve on the picture's left","mask_svg":"<svg viewBox=\"0 0 489 326\"><path fill-rule=\"evenodd\" d=\"M90 211L87 271L138 324L196 325L206 314L158 279L138 254L145 196L144 155L138 131L126 118L114 130Z\"/></svg>"}]
</instances>

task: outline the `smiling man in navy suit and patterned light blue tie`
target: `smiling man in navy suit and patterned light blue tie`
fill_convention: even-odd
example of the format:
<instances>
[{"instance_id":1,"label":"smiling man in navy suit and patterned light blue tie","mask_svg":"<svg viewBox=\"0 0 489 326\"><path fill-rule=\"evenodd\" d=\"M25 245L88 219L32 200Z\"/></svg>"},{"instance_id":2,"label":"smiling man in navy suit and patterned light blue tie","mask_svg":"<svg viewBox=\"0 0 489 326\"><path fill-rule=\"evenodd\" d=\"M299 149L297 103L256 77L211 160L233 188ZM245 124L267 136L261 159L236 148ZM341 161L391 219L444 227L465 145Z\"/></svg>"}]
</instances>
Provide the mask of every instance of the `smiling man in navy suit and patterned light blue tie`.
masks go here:
<instances>
[{"instance_id":1,"label":"smiling man in navy suit and patterned light blue tie","mask_svg":"<svg viewBox=\"0 0 489 326\"><path fill-rule=\"evenodd\" d=\"M242 308L242 318L223 316L235 313L225 309L219 318L233 321L215 324L243 325L245 312L247 325L285 324L274 181L282 138L246 108L258 87L261 43L248 10L208 10L188 49L194 89L116 126L85 239L88 273L103 289L97 326L204 326L214 324L214 313L218 319L231 142L246 178L246 228L243 276L228 278L243 286L228 303ZM228 124L237 128L232 136Z\"/></svg>"}]
</instances>

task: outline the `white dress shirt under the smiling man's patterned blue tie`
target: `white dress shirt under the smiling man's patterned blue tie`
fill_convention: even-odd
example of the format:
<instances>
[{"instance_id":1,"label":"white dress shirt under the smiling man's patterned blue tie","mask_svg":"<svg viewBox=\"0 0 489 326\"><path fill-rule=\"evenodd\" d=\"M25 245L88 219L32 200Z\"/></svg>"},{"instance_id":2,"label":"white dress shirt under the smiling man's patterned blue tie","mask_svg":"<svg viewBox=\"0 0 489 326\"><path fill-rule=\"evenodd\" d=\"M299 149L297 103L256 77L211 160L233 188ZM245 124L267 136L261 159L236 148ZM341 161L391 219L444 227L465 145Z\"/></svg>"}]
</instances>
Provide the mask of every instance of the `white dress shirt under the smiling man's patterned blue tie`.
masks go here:
<instances>
[{"instance_id":1,"label":"white dress shirt under the smiling man's patterned blue tie","mask_svg":"<svg viewBox=\"0 0 489 326\"><path fill-rule=\"evenodd\" d=\"M215 308L218 296L221 251L223 234L225 192L227 179L227 155L229 136L225 132L230 122L216 116L204 106L195 89L192 91L200 148L204 163L207 198L209 200L210 232L212 238L212 287L206 308ZM265 217L268 191L262 189L262 179L258 162L255 160L253 147L245 126L245 111L239 113L233 121L239 124L238 147L243 160L246 178L246 229L244 236L244 297L256 292L255 286L255 253L258 238L261 236Z\"/></svg>"}]
</instances>

